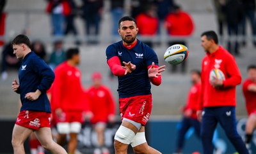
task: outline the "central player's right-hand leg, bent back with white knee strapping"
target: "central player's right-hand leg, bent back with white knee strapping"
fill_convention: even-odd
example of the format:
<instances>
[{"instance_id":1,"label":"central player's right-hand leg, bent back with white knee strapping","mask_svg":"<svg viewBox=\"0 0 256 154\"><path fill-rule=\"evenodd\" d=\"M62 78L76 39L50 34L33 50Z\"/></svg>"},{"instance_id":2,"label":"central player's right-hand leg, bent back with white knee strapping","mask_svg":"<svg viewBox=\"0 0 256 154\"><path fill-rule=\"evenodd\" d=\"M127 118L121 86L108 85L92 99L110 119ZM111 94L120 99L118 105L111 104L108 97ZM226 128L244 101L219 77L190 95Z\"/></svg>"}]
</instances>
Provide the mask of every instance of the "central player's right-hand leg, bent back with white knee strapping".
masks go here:
<instances>
[{"instance_id":1,"label":"central player's right-hand leg, bent back with white knee strapping","mask_svg":"<svg viewBox=\"0 0 256 154\"><path fill-rule=\"evenodd\" d=\"M156 149L148 146L146 137L145 137L145 127L141 126L141 129L133 138L131 146L133 148L134 153L147 153L147 154L160 154L161 152Z\"/></svg>"}]
</instances>

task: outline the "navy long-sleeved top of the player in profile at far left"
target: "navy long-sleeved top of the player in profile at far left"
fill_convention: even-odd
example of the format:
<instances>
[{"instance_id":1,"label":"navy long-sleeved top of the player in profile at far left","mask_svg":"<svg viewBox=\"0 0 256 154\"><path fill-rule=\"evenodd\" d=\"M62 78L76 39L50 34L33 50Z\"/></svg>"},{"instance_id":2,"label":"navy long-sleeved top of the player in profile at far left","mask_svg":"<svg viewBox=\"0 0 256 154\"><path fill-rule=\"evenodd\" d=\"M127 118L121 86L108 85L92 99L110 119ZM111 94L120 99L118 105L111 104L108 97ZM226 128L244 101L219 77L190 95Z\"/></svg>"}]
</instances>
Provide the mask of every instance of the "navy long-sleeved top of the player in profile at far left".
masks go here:
<instances>
[{"instance_id":1,"label":"navy long-sleeved top of the player in profile at far left","mask_svg":"<svg viewBox=\"0 0 256 154\"><path fill-rule=\"evenodd\" d=\"M19 69L18 93L20 93L20 101L23 110L45 111L51 113L51 106L46 91L51 87L54 81L54 73L51 68L40 59L34 52L28 53L22 60ZM35 101L25 99L25 95L29 92L40 90L42 93Z\"/></svg>"}]
</instances>

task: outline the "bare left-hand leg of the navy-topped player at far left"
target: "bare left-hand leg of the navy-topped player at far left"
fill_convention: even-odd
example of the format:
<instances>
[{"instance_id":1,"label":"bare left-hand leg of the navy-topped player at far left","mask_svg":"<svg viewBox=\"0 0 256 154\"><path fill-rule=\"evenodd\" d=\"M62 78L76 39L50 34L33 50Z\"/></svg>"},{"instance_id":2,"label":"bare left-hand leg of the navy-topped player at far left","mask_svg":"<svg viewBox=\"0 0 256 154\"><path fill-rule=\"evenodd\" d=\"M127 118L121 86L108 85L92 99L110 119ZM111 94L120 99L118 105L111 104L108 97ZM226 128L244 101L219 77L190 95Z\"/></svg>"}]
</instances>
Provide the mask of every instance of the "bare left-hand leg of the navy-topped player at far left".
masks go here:
<instances>
[{"instance_id":1,"label":"bare left-hand leg of the navy-topped player at far left","mask_svg":"<svg viewBox=\"0 0 256 154\"><path fill-rule=\"evenodd\" d=\"M31 132L33 132L32 129L28 129L16 124L14 125L12 132L13 153L25 154L24 142Z\"/></svg>"}]
</instances>

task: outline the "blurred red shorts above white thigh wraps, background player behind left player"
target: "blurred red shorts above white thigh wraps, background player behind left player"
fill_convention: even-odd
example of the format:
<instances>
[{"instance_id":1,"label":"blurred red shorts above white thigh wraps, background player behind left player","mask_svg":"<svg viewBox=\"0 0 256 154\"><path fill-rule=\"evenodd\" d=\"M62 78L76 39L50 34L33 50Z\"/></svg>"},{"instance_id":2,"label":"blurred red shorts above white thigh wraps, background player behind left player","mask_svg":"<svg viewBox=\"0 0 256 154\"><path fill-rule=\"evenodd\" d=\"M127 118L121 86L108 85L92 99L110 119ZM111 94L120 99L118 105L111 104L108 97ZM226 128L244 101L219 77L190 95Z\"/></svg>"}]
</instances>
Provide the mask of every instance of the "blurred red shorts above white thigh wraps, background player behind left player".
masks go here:
<instances>
[{"instance_id":1,"label":"blurred red shorts above white thigh wraps, background player behind left player","mask_svg":"<svg viewBox=\"0 0 256 154\"><path fill-rule=\"evenodd\" d=\"M83 115L81 111L63 111L60 117L56 116L56 122L83 122Z\"/></svg>"}]
</instances>

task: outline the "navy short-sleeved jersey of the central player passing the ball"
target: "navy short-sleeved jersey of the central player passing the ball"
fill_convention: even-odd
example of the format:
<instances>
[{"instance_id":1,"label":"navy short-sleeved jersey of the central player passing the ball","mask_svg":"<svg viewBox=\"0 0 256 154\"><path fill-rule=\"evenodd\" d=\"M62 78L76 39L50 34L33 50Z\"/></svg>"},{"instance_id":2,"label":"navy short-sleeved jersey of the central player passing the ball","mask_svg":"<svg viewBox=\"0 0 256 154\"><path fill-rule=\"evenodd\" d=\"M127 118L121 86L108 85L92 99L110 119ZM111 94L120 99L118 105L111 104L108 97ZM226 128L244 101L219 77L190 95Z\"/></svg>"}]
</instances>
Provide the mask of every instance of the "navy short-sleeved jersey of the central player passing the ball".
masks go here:
<instances>
[{"instance_id":1,"label":"navy short-sleeved jersey of the central player passing the ball","mask_svg":"<svg viewBox=\"0 0 256 154\"><path fill-rule=\"evenodd\" d=\"M133 48L128 49L125 48L122 41L119 41L108 46L106 56L107 60L118 56L121 64L122 62L131 62L136 65L136 69L131 74L118 76L117 91L120 98L151 94L147 67L152 62L158 66L157 55L152 48L138 40Z\"/></svg>"}]
</instances>

